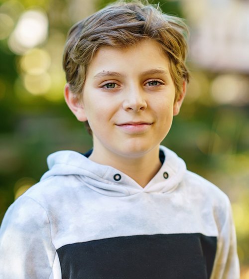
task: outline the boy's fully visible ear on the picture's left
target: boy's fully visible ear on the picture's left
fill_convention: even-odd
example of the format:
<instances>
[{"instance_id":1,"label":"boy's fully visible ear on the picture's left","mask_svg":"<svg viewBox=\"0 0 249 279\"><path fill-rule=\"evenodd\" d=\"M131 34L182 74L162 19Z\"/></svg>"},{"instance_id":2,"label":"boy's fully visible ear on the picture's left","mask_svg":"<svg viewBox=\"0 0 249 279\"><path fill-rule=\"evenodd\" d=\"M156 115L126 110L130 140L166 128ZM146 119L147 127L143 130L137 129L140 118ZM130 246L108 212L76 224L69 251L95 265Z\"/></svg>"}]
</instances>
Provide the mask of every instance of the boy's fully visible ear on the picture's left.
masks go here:
<instances>
[{"instance_id":1,"label":"boy's fully visible ear on the picture's left","mask_svg":"<svg viewBox=\"0 0 249 279\"><path fill-rule=\"evenodd\" d=\"M79 97L71 92L68 83L64 88L64 97L69 109L76 116L76 118L81 122L87 121L84 106Z\"/></svg>"}]
</instances>

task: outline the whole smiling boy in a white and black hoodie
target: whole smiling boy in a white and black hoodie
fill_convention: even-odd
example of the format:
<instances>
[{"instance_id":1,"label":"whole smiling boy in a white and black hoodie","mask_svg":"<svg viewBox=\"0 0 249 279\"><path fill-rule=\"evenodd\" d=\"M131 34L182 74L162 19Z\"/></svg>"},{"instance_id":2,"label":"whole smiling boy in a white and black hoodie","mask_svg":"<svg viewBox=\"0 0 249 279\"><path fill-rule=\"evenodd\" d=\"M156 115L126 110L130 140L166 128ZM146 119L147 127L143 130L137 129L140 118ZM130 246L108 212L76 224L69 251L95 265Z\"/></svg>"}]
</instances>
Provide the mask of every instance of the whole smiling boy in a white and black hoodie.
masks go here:
<instances>
[{"instance_id":1,"label":"whole smiling boy in a white and black hoodie","mask_svg":"<svg viewBox=\"0 0 249 279\"><path fill-rule=\"evenodd\" d=\"M65 99L93 150L59 151L8 209L4 279L238 279L227 196L160 142L189 73L186 27L138 1L75 24Z\"/></svg>"}]
</instances>

